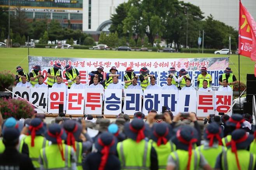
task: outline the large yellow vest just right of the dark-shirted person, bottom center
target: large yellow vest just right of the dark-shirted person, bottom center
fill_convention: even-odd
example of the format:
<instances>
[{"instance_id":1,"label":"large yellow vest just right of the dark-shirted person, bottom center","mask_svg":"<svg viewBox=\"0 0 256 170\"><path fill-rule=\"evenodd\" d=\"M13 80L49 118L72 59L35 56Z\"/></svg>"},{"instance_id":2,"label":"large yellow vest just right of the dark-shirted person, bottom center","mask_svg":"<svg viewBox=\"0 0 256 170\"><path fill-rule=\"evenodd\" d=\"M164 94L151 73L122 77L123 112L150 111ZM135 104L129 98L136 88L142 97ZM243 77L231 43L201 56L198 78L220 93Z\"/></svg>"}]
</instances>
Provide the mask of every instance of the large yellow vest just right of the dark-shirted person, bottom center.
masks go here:
<instances>
[{"instance_id":1,"label":"large yellow vest just right of the dark-shirted person, bottom center","mask_svg":"<svg viewBox=\"0 0 256 170\"><path fill-rule=\"evenodd\" d=\"M117 143L117 153L122 170L138 170L150 168L150 153L152 145L146 140L139 143L126 139Z\"/></svg>"}]
</instances>

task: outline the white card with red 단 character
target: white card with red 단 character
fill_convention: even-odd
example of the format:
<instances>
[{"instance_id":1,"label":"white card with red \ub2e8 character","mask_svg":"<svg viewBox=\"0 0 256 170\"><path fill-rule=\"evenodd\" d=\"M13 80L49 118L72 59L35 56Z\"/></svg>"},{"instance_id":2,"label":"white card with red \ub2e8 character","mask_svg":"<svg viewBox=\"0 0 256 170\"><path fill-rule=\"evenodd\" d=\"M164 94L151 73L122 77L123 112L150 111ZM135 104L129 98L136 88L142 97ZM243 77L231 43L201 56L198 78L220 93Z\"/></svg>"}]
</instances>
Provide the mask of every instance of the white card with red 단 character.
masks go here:
<instances>
[{"instance_id":1,"label":"white card with red \ub2e8 character","mask_svg":"<svg viewBox=\"0 0 256 170\"><path fill-rule=\"evenodd\" d=\"M67 109L68 114L84 114L84 89L68 89Z\"/></svg>"}]
</instances>

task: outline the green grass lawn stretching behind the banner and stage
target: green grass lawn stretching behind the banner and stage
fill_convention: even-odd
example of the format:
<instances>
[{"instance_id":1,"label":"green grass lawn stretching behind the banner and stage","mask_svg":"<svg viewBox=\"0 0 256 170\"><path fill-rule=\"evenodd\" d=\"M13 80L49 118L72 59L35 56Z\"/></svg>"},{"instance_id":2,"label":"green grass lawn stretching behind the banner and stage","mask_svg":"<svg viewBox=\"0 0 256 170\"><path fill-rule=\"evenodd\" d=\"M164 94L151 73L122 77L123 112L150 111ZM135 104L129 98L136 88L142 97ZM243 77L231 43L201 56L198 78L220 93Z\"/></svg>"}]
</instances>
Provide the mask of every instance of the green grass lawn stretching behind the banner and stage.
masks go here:
<instances>
[{"instance_id":1,"label":"green grass lawn stretching behind the banner and stage","mask_svg":"<svg viewBox=\"0 0 256 170\"><path fill-rule=\"evenodd\" d=\"M20 65L28 70L28 49L26 48L0 48L2 70L16 73L16 66ZM224 57L225 55L198 54L198 53L163 53L163 52L137 52L112 50L79 50L79 49L30 49L30 56L49 57L77 57L77 58L199 58ZM240 80L246 82L246 74L254 73L254 62L248 57L240 56ZM238 79L238 55L230 56L230 67Z\"/></svg>"}]
</instances>

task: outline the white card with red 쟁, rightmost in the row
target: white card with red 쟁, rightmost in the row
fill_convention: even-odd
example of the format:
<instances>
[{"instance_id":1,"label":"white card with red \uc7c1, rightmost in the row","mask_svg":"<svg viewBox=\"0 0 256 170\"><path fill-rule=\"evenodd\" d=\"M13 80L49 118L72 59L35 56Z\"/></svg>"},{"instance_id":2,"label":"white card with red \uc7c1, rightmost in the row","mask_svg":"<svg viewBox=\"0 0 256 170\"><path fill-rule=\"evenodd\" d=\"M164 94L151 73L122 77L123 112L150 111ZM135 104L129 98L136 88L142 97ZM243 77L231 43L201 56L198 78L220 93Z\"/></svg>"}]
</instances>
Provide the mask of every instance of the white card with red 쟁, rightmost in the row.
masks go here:
<instances>
[{"instance_id":1,"label":"white card with red \uc7c1, rightmost in the row","mask_svg":"<svg viewBox=\"0 0 256 170\"><path fill-rule=\"evenodd\" d=\"M231 116L232 114L232 104L233 104L233 92L223 92L223 91L215 91L215 114L219 113L227 113Z\"/></svg>"}]
</instances>

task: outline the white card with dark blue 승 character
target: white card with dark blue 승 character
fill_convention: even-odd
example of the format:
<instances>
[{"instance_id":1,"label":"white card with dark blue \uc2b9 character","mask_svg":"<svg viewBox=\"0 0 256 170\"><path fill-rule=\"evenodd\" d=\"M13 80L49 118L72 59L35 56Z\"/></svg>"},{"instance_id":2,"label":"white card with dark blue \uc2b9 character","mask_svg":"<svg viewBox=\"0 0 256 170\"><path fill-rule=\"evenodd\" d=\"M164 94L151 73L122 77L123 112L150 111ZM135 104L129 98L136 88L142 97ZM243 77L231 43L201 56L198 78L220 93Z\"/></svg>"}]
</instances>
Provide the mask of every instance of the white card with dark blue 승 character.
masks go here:
<instances>
[{"instance_id":1,"label":"white card with dark blue \uc2b9 character","mask_svg":"<svg viewBox=\"0 0 256 170\"><path fill-rule=\"evenodd\" d=\"M122 89L106 89L104 114L118 115L122 111Z\"/></svg>"}]
</instances>

